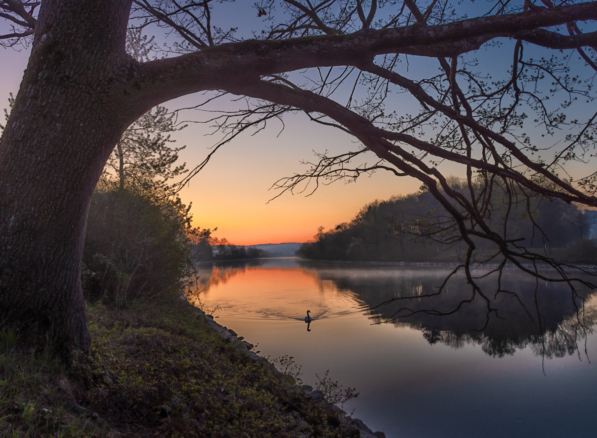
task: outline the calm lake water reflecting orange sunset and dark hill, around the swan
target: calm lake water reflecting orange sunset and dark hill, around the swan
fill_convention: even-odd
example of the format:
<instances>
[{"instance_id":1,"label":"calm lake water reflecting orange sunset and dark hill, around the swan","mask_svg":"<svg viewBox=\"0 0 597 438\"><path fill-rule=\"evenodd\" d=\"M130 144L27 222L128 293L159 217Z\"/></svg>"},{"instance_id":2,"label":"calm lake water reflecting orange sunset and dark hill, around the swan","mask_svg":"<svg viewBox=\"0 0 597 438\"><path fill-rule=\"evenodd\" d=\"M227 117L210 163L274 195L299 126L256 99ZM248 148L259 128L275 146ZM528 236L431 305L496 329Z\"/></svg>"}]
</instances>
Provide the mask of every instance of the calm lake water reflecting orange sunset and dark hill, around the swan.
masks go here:
<instances>
[{"instance_id":1,"label":"calm lake water reflecting orange sunset and dark hill, around the swan","mask_svg":"<svg viewBox=\"0 0 597 438\"><path fill-rule=\"evenodd\" d=\"M388 438L597 436L597 336L584 335L565 286L509 271L495 310L476 297L451 316L376 324L468 298L457 275L439 296L369 310L433 293L451 269L296 258L204 264L201 299L218 307L220 324L259 343L261 356L293 356L304 382L329 369L355 387L359 396L344 411ZM496 279L481 280L492 298ZM581 295L580 316L594 329L597 298Z\"/></svg>"}]
</instances>

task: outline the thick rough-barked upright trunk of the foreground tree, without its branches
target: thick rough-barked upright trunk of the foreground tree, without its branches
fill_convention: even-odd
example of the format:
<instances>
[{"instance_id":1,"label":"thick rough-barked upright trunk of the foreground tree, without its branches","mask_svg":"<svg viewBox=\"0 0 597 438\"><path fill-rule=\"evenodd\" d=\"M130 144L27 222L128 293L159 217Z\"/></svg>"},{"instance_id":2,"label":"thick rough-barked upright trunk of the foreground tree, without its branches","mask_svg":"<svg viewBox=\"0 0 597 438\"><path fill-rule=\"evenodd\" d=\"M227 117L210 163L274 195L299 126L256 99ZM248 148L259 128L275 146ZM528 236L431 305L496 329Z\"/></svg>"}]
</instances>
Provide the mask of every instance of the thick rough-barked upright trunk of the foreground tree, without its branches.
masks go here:
<instances>
[{"instance_id":1,"label":"thick rough-barked upright trunk of the foreground tree, without its branches","mask_svg":"<svg viewBox=\"0 0 597 438\"><path fill-rule=\"evenodd\" d=\"M122 131L127 0L44 0L0 140L0 327L69 354L90 339L81 256L91 194Z\"/></svg>"}]
</instances>

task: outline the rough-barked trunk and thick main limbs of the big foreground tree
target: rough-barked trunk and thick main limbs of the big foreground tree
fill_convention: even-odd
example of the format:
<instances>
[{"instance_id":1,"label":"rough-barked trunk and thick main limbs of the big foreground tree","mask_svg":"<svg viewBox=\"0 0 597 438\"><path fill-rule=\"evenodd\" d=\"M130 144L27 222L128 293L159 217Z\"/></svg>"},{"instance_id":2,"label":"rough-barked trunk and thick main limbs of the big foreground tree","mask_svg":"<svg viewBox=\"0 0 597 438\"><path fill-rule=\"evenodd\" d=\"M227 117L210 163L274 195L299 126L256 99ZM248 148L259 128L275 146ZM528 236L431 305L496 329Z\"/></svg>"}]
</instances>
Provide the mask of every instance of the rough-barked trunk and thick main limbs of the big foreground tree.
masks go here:
<instances>
[{"instance_id":1,"label":"rough-barked trunk and thick main limbs of the big foreground tree","mask_svg":"<svg viewBox=\"0 0 597 438\"><path fill-rule=\"evenodd\" d=\"M558 48L597 40L597 33L534 31L597 19L597 3L587 2L441 26L243 41L140 64L125 53L130 4L131 0L44 0L29 65L0 139L0 328L23 330L63 353L89 347L80 271L91 194L122 132L153 106L220 89L322 112L350 126L380 158L436 190L433 169L419 163L425 172L413 170L401 161L406 152L396 152L397 146L371 122L321 96L261 84L260 76L309 67L362 66L384 53L452 56L496 36L536 44L549 39L546 47ZM594 200L584 201L592 205ZM447 201L445 207L453 208ZM456 210L453 213L459 217Z\"/></svg>"}]
</instances>

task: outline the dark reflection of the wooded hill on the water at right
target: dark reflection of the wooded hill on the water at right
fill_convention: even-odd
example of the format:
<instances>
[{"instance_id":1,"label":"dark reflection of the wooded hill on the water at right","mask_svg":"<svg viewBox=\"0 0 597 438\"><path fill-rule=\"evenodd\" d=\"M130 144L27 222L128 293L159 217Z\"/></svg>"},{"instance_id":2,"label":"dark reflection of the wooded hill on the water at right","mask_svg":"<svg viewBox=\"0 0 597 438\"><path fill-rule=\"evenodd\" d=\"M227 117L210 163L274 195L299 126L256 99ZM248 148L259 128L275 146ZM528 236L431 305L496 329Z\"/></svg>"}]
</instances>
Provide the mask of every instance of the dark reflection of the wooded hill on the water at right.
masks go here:
<instances>
[{"instance_id":1,"label":"dark reflection of the wooded hill on the water at right","mask_svg":"<svg viewBox=\"0 0 597 438\"><path fill-rule=\"evenodd\" d=\"M312 262L306 262L304 267L317 272L321 280L334 281L339 290L352 291L356 299L374 308L370 312L376 323L397 318L393 324L408 324L421 330L430 344L441 342L461 348L474 343L496 357L514 354L516 349L525 347L548 358L572 354L585 338L583 324L590 327L597 322L597 309L590 305L583 307L581 299L576 303L581 309L577 316L570 289L565 284L536 284L535 278L518 271L503 275L504 292L497 294L497 277L491 275L479 280L496 311L488 311L487 303L477 300L463 305L454 314L435 316L416 312L429 309L444 312L470 296L466 279L453 277L440 295L421 297L438 290L449 268L330 267ZM587 299L591 293L585 290L579 295ZM401 300L376 307L392 298Z\"/></svg>"}]
</instances>

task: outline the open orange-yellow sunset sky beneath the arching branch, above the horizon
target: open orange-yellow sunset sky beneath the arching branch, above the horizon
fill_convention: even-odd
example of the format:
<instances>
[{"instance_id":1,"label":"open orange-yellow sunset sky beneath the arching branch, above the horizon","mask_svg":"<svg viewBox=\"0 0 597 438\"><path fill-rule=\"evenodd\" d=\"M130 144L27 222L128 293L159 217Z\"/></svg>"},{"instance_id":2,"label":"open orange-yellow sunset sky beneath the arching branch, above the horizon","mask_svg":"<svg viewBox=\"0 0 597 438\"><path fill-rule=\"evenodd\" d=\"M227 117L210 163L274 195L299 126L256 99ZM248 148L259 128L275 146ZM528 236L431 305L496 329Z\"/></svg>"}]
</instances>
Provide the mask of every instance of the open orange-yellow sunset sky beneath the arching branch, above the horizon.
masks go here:
<instances>
[{"instance_id":1,"label":"open orange-yellow sunset sky beneath the arching branch, above the horizon","mask_svg":"<svg viewBox=\"0 0 597 438\"><path fill-rule=\"evenodd\" d=\"M190 103L179 100L168 105L174 108ZM225 237L236 245L303 243L313 239L318 226L330 229L349 222L365 204L417 191L421 185L411 177L378 171L348 184L336 181L325 185L327 182L320 180L318 190L308 197L309 191L287 192L268 203L279 194L270 189L272 184L306 171L308 166L300 161L313 161L313 150L330 154L358 150L349 135L315 125L305 115L291 116L285 119L282 133L272 126L256 136L239 136L213 155L180 193L184 203L193 203L193 226L217 227L215 237ZM190 125L176 133L175 145L187 145L179 153L179 161L190 168L205 158L216 141L201 128ZM367 158L374 159L373 154Z\"/></svg>"}]
</instances>

